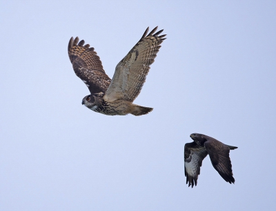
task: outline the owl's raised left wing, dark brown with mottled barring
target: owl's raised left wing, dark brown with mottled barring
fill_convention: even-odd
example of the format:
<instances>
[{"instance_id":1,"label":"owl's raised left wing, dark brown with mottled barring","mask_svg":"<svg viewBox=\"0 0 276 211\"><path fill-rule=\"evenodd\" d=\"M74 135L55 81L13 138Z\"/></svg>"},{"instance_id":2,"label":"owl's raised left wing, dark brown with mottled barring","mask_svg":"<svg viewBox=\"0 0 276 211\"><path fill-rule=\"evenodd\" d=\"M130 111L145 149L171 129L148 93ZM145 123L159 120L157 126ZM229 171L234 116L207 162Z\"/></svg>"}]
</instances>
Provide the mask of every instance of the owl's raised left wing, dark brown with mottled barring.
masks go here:
<instances>
[{"instance_id":1,"label":"owl's raised left wing, dark brown with mottled barring","mask_svg":"<svg viewBox=\"0 0 276 211\"><path fill-rule=\"evenodd\" d=\"M75 74L88 86L90 93L106 92L110 85L110 78L106 75L101 65L101 60L94 51L94 47L84 45L76 37L70 38L68 54Z\"/></svg>"}]
</instances>

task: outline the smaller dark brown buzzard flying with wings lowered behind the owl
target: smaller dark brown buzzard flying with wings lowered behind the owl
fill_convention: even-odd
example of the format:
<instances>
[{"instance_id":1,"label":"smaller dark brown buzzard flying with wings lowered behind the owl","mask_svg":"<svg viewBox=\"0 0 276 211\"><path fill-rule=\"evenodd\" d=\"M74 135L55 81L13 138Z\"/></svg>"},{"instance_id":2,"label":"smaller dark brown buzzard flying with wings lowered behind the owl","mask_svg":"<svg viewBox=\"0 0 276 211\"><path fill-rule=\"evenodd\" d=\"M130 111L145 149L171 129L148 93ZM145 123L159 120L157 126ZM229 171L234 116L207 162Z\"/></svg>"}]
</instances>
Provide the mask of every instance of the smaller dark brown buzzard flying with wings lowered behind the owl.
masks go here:
<instances>
[{"instance_id":1,"label":"smaller dark brown buzzard flying with wings lowered behind the owl","mask_svg":"<svg viewBox=\"0 0 276 211\"><path fill-rule=\"evenodd\" d=\"M184 147L184 168L186 184L197 186L197 177L200 173L202 160L209 155L215 170L230 184L235 183L232 173L232 165L229 157L230 150L237 148L215 140L215 138L193 133L190 137L194 142L185 144Z\"/></svg>"}]
</instances>

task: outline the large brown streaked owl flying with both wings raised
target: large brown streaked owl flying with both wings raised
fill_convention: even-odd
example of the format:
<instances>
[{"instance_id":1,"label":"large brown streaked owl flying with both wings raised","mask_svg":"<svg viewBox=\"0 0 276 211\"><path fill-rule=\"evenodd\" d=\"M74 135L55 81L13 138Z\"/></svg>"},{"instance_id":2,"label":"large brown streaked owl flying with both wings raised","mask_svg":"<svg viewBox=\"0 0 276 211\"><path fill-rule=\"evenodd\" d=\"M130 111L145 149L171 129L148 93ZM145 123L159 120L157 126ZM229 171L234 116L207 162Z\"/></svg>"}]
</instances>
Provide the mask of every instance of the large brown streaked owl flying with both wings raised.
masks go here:
<instances>
[{"instance_id":1,"label":"large brown streaked owl flying with both wings raised","mask_svg":"<svg viewBox=\"0 0 276 211\"><path fill-rule=\"evenodd\" d=\"M79 38L71 38L68 54L75 74L81 78L90 91L90 95L82 100L88 109L106 115L144 115L152 108L141 107L132 102L139 95L150 65L155 61L161 43L166 34L159 36L163 30L149 34L148 28L138 43L118 63L115 74L110 80L103 70L101 60L94 47L79 42Z\"/></svg>"}]
</instances>

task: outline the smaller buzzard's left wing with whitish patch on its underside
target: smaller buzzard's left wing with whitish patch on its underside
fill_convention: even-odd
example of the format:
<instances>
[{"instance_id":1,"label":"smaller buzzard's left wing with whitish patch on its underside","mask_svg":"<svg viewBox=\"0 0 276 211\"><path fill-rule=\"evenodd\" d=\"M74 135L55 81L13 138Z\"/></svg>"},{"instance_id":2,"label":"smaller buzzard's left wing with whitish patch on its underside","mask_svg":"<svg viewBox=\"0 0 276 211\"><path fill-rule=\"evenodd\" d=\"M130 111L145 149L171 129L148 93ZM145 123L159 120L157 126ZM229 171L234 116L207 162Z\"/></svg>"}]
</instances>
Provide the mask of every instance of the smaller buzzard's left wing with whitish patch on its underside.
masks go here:
<instances>
[{"instance_id":1,"label":"smaller buzzard's left wing with whitish patch on its underside","mask_svg":"<svg viewBox=\"0 0 276 211\"><path fill-rule=\"evenodd\" d=\"M184 167L186 184L189 187L197 186L197 177L200 174L200 166L203 159L208 155L206 149L197 145L195 142L187 143L184 147Z\"/></svg>"}]
</instances>

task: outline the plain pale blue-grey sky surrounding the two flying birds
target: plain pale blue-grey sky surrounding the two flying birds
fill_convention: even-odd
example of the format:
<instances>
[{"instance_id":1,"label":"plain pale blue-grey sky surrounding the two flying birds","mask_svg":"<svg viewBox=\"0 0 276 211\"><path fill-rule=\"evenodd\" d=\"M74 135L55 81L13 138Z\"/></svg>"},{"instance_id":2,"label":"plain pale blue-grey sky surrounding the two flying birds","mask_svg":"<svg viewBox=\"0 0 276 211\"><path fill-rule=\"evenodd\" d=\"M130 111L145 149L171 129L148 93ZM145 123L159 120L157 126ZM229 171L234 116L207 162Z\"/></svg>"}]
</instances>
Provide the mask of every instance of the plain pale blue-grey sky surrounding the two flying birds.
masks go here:
<instances>
[{"instance_id":1,"label":"plain pale blue-grey sky surrounding the two flying birds","mask_svg":"<svg viewBox=\"0 0 276 211\"><path fill-rule=\"evenodd\" d=\"M275 1L1 1L0 210L275 210ZM112 78L146 27L167 35L135 104L81 106L68 41L95 47ZM235 184L184 144L232 146Z\"/></svg>"}]
</instances>

